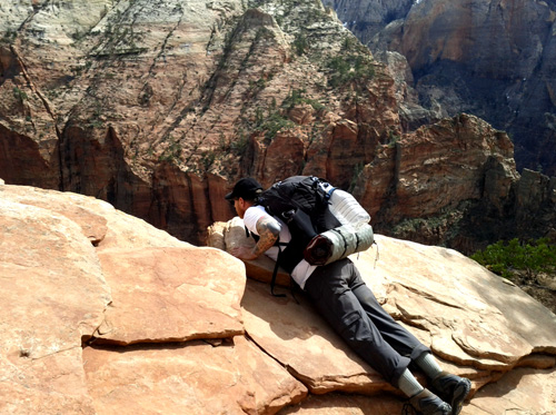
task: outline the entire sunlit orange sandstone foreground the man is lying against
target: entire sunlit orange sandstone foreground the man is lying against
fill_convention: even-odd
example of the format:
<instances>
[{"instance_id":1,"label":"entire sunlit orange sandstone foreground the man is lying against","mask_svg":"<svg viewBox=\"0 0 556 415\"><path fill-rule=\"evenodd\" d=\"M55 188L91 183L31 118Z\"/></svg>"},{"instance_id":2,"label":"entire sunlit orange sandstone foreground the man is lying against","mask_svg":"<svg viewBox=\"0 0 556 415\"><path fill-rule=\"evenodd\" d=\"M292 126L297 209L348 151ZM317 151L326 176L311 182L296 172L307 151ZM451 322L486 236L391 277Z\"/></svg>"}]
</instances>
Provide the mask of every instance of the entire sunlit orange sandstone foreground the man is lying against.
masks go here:
<instances>
[{"instance_id":1,"label":"entire sunlit orange sandstone foreground the man is lying against","mask_svg":"<svg viewBox=\"0 0 556 415\"><path fill-rule=\"evenodd\" d=\"M2 414L401 411L302 294L270 295L271 264L224 251L249 243L237 218L211 227L221 249L196 247L91 197L0 185L0 228ZM471 378L463 414L552 411L554 314L454 250L377 243L379 258L354 260L441 366Z\"/></svg>"}]
</instances>

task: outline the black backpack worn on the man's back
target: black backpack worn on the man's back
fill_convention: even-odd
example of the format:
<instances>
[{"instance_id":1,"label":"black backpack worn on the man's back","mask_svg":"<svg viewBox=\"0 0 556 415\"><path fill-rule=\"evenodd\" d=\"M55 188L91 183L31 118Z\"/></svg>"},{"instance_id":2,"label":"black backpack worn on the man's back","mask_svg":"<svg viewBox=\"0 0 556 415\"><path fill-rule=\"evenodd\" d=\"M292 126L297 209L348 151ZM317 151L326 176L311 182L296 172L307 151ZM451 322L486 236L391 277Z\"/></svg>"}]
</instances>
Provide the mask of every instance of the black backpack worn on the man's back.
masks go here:
<instances>
[{"instance_id":1,"label":"black backpack worn on the man's back","mask_svg":"<svg viewBox=\"0 0 556 415\"><path fill-rule=\"evenodd\" d=\"M278 266L291 273L304 259L304 250L315 236L340 226L328 209L330 192L327 194L321 186L327 184L326 180L314 176L292 176L262 191L255 201L256 205L265 207L268 214L281 219L291 234L288 244L279 240L277 243L280 253L271 280L271 292L275 296Z\"/></svg>"}]
</instances>

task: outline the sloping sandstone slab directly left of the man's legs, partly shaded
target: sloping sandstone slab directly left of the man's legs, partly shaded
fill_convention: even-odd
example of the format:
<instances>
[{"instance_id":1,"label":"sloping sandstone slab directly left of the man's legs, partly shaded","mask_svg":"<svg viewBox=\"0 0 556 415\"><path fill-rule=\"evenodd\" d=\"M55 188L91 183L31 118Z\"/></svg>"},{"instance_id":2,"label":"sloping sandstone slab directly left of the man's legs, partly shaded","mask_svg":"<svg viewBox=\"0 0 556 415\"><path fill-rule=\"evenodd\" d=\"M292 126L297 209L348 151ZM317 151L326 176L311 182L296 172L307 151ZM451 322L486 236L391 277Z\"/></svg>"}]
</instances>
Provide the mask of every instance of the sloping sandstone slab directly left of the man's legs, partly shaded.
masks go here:
<instances>
[{"instance_id":1,"label":"sloping sandstone slab directly left of the man's legs, partly shaded","mask_svg":"<svg viewBox=\"0 0 556 415\"><path fill-rule=\"evenodd\" d=\"M346 346L302 295L296 297L299 304L290 295L272 297L267 284L248 280L241 306L249 336L311 393L371 394L391 389Z\"/></svg>"}]
</instances>

